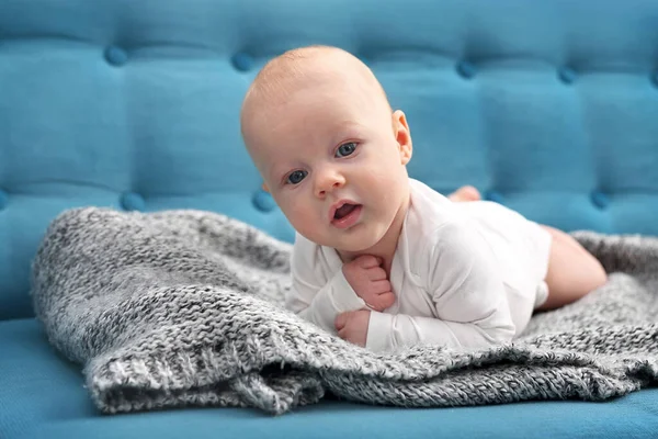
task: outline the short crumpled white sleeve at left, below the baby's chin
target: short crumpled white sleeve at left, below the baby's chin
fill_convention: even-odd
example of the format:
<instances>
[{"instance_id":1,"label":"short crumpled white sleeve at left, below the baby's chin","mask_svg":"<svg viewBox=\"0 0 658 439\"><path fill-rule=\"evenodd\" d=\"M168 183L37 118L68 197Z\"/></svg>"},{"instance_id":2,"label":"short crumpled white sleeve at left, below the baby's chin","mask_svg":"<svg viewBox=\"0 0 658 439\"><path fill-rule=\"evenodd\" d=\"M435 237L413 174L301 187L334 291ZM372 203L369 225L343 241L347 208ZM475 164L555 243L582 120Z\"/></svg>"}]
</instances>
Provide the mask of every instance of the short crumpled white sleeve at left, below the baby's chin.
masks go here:
<instances>
[{"instance_id":1,"label":"short crumpled white sleeve at left, below the baby's chin","mask_svg":"<svg viewBox=\"0 0 658 439\"><path fill-rule=\"evenodd\" d=\"M356 295L342 269L331 277L324 274L318 263L319 246L297 237L291 258L293 285L285 297L285 306L302 318L336 334L336 317L348 311L364 308L365 302Z\"/></svg>"}]
</instances>

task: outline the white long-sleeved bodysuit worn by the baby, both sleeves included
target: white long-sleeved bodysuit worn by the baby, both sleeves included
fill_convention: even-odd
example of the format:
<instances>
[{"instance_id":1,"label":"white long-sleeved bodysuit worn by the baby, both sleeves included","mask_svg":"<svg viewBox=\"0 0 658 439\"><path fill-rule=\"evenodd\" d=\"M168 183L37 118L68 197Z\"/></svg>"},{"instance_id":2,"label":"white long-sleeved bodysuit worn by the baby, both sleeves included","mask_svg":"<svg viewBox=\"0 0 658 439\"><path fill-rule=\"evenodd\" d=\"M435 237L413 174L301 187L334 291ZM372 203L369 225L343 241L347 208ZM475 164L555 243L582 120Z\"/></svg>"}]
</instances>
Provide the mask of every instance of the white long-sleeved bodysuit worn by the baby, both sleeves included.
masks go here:
<instances>
[{"instance_id":1,"label":"white long-sleeved bodysuit worn by the baby, both sleeves included","mask_svg":"<svg viewBox=\"0 0 658 439\"><path fill-rule=\"evenodd\" d=\"M396 302L371 311L366 348L478 348L518 336L547 297L548 232L500 204L454 203L420 181L409 184L389 277ZM339 314L366 307L341 268L333 248L297 234L287 308L337 334Z\"/></svg>"}]
</instances>

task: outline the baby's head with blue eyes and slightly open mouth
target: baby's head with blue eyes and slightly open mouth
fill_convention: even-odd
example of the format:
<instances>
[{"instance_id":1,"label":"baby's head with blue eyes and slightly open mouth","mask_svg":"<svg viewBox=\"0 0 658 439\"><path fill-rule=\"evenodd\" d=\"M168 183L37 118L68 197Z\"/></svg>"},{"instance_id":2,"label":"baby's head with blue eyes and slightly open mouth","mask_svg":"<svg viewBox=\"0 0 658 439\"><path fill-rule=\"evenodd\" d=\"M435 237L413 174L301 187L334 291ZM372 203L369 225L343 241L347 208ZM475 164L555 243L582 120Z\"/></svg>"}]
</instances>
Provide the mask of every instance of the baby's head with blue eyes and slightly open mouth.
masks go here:
<instances>
[{"instance_id":1,"label":"baby's head with blue eyes and slightly open mouth","mask_svg":"<svg viewBox=\"0 0 658 439\"><path fill-rule=\"evenodd\" d=\"M405 214L405 114L349 53L311 46L274 58L247 92L240 122L265 189L307 239L364 251Z\"/></svg>"}]
</instances>

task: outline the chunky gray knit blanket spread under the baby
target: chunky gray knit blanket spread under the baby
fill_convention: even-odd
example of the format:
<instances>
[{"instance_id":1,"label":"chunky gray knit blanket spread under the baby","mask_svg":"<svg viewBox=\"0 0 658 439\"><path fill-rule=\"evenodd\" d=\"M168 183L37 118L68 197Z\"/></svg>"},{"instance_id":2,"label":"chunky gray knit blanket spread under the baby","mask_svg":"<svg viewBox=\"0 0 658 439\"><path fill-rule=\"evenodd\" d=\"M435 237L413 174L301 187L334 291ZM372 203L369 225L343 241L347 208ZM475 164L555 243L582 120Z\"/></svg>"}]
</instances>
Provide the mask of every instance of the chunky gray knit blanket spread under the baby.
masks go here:
<instances>
[{"instance_id":1,"label":"chunky gray knit blanket spread under the baby","mask_svg":"<svg viewBox=\"0 0 658 439\"><path fill-rule=\"evenodd\" d=\"M67 211L33 266L49 341L103 413L183 406L284 414L326 395L441 407L602 401L658 382L658 238L575 234L609 283L533 317L513 344L374 353L284 306L291 246L198 211Z\"/></svg>"}]
</instances>

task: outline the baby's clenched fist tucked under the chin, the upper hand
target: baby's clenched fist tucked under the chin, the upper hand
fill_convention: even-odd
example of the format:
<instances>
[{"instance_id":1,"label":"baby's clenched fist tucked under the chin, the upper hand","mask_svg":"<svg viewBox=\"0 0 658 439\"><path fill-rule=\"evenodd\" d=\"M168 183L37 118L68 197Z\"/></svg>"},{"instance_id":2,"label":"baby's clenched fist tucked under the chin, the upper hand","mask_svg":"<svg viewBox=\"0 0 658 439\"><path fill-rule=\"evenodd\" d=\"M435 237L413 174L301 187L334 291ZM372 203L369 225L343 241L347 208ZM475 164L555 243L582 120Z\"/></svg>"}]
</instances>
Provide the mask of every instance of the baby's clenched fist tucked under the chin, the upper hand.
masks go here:
<instances>
[{"instance_id":1,"label":"baby's clenched fist tucked under the chin, the upper hand","mask_svg":"<svg viewBox=\"0 0 658 439\"><path fill-rule=\"evenodd\" d=\"M379 312L395 303L395 294L381 263L382 259L363 255L342 267L343 274L356 295L367 306Z\"/></svg>"}]
</instances>

